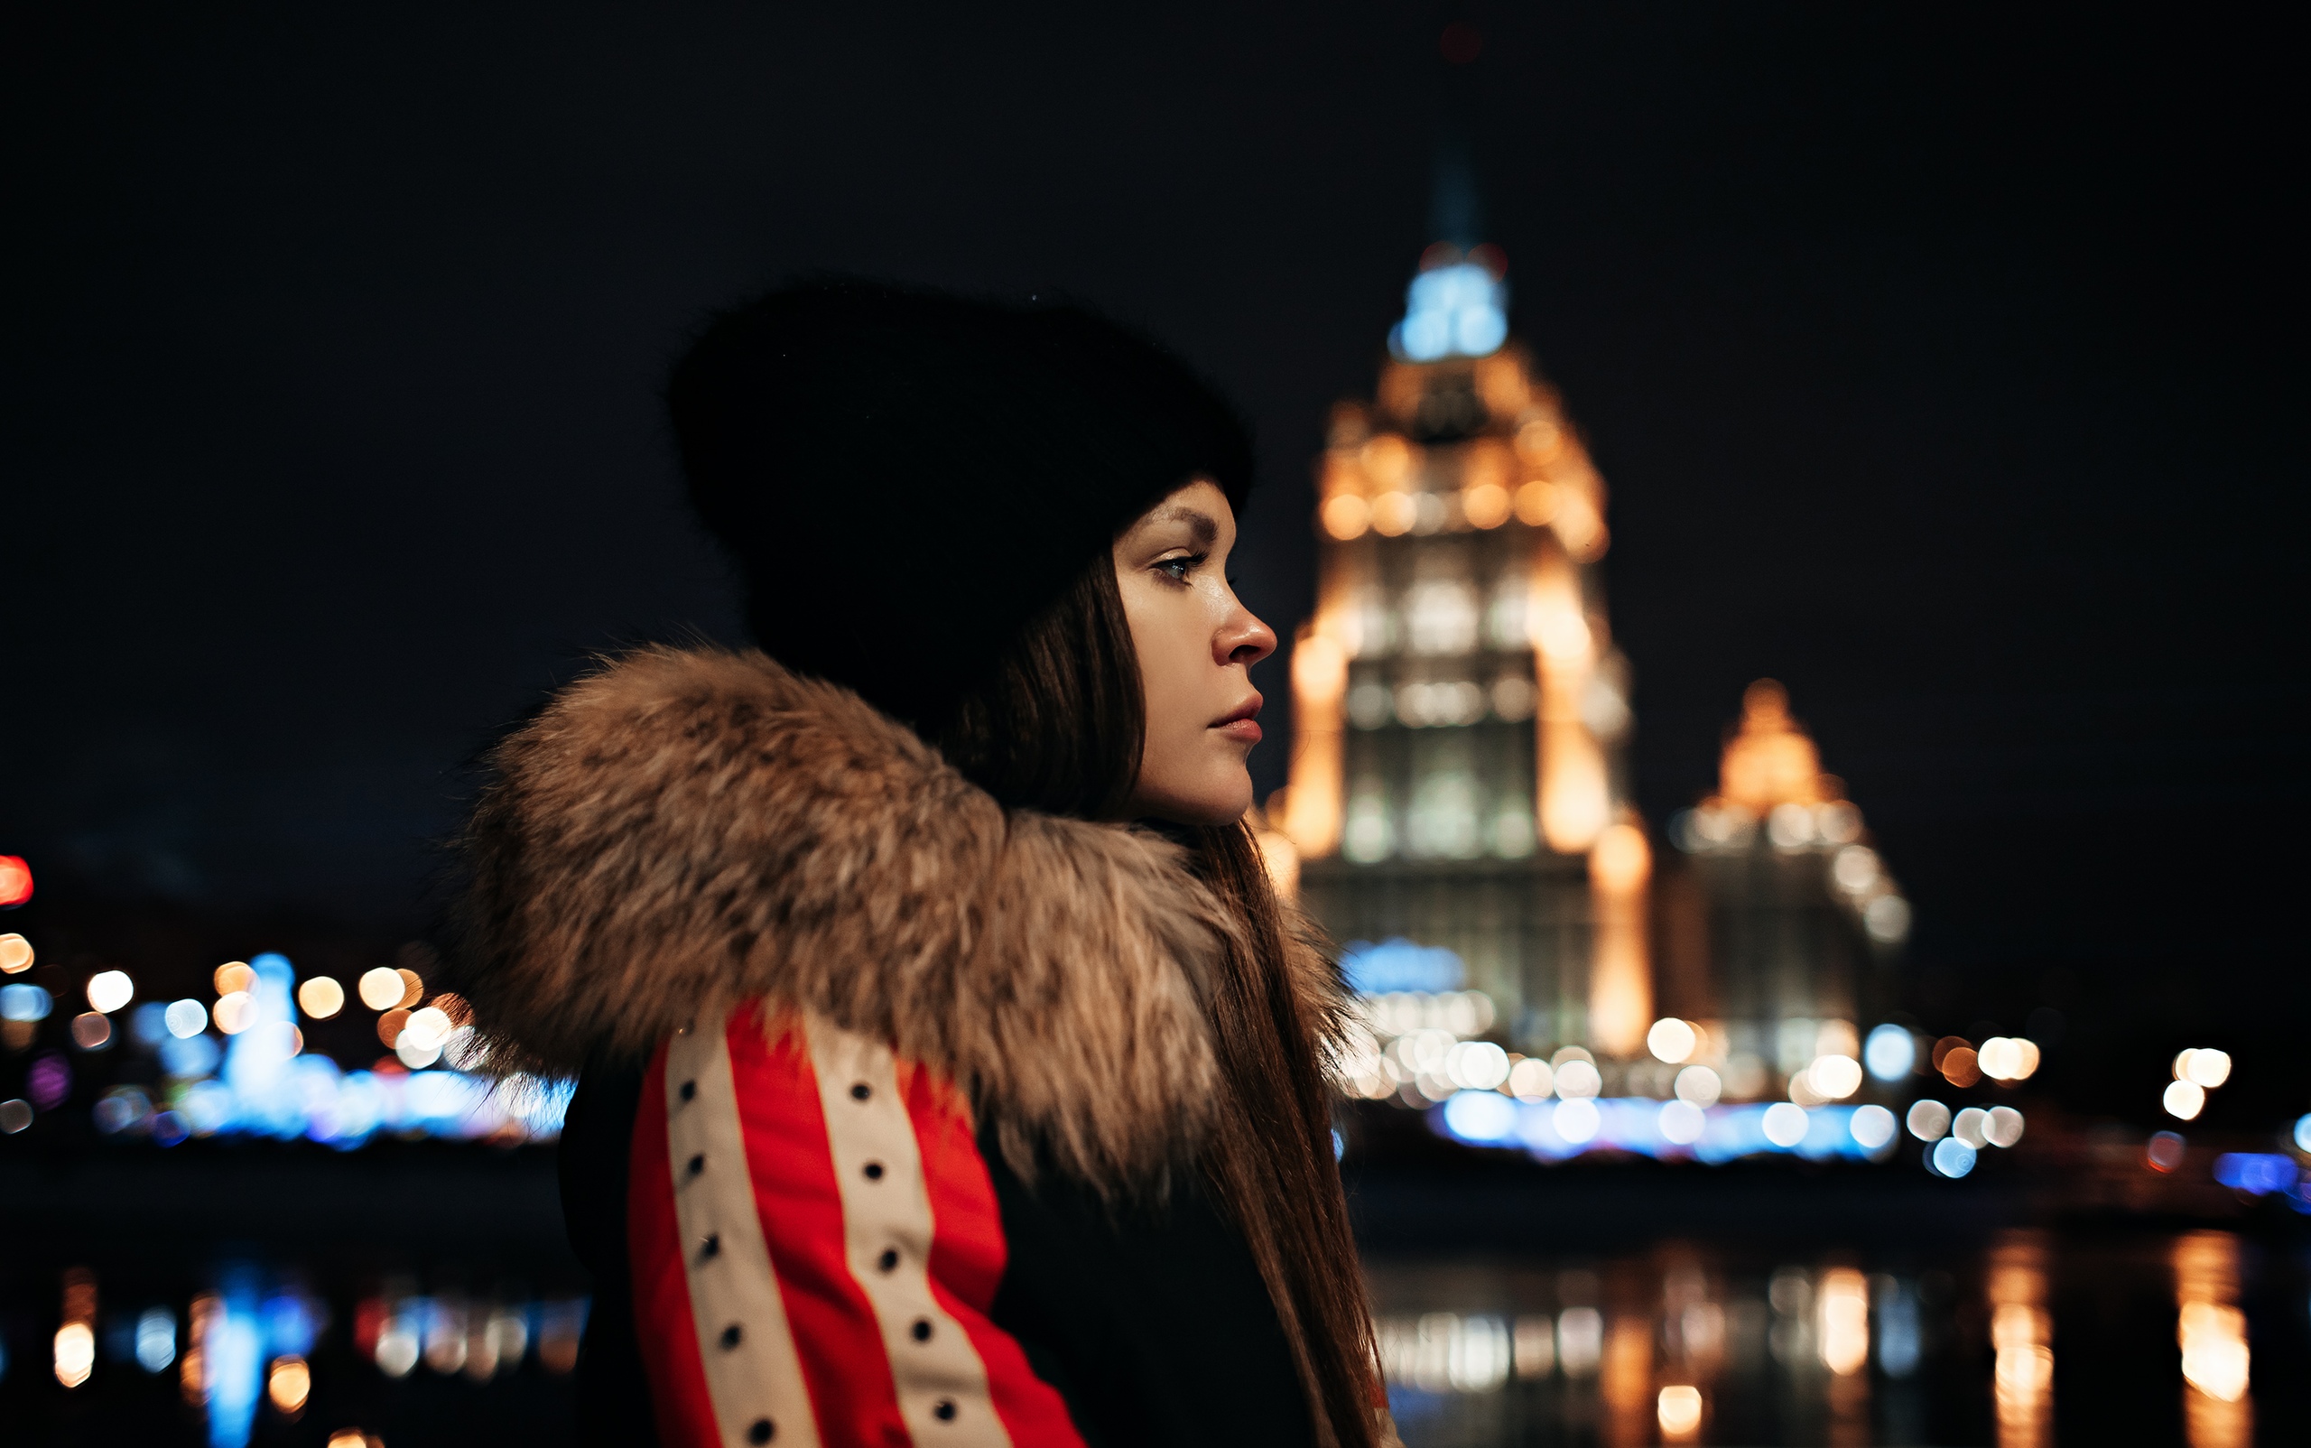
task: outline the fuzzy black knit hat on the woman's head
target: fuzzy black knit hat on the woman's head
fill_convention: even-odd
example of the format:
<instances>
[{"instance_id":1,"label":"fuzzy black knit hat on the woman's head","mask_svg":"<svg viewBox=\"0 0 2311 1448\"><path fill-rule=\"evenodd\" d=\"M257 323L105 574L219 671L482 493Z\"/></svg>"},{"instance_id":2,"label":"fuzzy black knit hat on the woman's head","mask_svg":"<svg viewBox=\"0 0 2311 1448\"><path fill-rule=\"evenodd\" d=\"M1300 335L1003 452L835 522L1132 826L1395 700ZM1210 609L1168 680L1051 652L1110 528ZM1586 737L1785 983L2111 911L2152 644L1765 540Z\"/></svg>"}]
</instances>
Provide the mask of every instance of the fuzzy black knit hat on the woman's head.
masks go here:
<instances>
[{"instance_id":1,"label":"fuzzy black knit hat on the woman's head","mask_svg":"<svg viewBox=\"0 0 2311 1448\"><path fill-rule=\"evenodd\" d=\"M668 411L756 642L908 723L943 716L1114 536L1190 478L1243 508L1243 420L1070 305L857 279L707 326Z\"/></svg>"}]
</instances>

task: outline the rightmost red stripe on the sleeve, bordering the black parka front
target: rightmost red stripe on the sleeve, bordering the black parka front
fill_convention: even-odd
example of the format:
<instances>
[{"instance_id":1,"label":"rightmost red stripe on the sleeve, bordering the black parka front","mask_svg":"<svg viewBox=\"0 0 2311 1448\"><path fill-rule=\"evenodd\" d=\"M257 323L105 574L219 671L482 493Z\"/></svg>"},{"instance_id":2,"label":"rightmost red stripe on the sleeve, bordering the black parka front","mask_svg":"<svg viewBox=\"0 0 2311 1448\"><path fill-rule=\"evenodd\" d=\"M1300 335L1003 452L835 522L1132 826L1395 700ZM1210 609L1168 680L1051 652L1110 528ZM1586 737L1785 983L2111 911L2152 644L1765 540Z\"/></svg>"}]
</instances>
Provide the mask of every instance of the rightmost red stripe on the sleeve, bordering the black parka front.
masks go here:
<instances>
[{"instance_id":1,"label":"rightmost red stripe on the sleeve, bordering the black parka front","mask_svg":"<svg viewBox=\"0 0 2311 1448\"><path fill-rule=\"evenodd\" d=\"M931 1296L964 1326L987 1369L987 1395L1012 1448L1084 1448L1058 1390L1035 1376L1026 1353L989 1321L1003 1263L1003 1210L996 1185L954 1090L931 1072L904 1072L906 1115L922 1152L931 1196Z\"/></svg>"}]
</instances>

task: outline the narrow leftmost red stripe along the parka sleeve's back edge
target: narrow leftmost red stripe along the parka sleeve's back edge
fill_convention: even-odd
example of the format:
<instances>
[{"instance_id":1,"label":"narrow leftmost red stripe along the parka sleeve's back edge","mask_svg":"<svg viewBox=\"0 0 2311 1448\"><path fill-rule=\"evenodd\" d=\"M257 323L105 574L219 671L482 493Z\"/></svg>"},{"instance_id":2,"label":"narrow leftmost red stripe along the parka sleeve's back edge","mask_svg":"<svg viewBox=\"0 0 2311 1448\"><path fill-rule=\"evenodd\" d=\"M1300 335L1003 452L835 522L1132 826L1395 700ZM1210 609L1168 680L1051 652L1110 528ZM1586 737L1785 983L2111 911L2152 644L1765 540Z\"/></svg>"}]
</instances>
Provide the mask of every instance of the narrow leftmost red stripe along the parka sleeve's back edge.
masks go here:
<instances>
[{"instance_id":1,"label":"narrow leftmost red stripe along the parka sleeve's back edge","mask_svg":"<svg viewBox=\"0 0 2311 1448\"><path fill-rule=\"evenodd\" d=\"M666 1159L666 1046L642 1076L626 1166L626 1261L633 1275L633 1326L649 1372L649 1402L663 1448L721 1448L698 1321L691 1316L689 1263L675 1217L675 1175Z\"/></svg>"}]
</instances>

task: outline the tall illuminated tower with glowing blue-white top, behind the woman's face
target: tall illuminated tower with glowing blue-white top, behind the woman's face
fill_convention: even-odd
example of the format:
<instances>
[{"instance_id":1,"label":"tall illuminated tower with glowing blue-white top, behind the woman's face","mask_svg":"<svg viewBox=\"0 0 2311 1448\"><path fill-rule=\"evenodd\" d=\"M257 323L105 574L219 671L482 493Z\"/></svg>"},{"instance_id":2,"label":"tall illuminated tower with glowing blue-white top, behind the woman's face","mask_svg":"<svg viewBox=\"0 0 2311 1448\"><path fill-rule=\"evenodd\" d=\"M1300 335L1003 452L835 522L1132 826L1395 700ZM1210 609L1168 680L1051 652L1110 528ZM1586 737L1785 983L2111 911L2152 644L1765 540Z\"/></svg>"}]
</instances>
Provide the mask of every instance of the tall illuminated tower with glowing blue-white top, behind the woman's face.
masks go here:
<instances>
[{"instance_id":1,"label":"tall illuminated tower with glowing blue-white top, behind the woman's face","mask_svg":"<svg viewBox=\"0 0 2311 1448\"><path fill-rule=\"evenodd\" d=\"M1271 818L1343 942L1444 947L1523 1051L1643 1051L1645 834L1604 483L1509 339L1498 247L1437 242L1317 464L1317 607Z\"/></svg>"}]
</instances>

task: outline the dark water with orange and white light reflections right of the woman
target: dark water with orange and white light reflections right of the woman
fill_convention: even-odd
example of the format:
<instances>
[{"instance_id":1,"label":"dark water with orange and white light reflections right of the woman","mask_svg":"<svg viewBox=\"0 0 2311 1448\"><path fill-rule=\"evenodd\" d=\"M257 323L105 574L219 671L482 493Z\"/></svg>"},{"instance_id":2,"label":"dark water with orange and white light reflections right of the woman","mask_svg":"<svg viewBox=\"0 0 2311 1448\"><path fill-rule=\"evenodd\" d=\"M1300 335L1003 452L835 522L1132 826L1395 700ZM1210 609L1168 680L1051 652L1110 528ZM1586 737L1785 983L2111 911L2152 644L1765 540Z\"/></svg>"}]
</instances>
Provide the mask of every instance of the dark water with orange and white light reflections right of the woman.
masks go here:
<instances>
[{"instance_id":1,"label":"dark water with orange and white light reflections right of the woman","mask_svg":"<svg viewBox=\"0 0 2311 1448\"><path fill-rule=\"evenodd\" d=\"M2260 1319L2242 1293L2260 1266ZM1407 1448L2189 1443L2299 1420L2304 1272L2223 1231L1937 1261L1689 1245L1368 1268ZM2262 1409L2269 1411L2269 1409Z\"/></svg>"}]
</instances>

